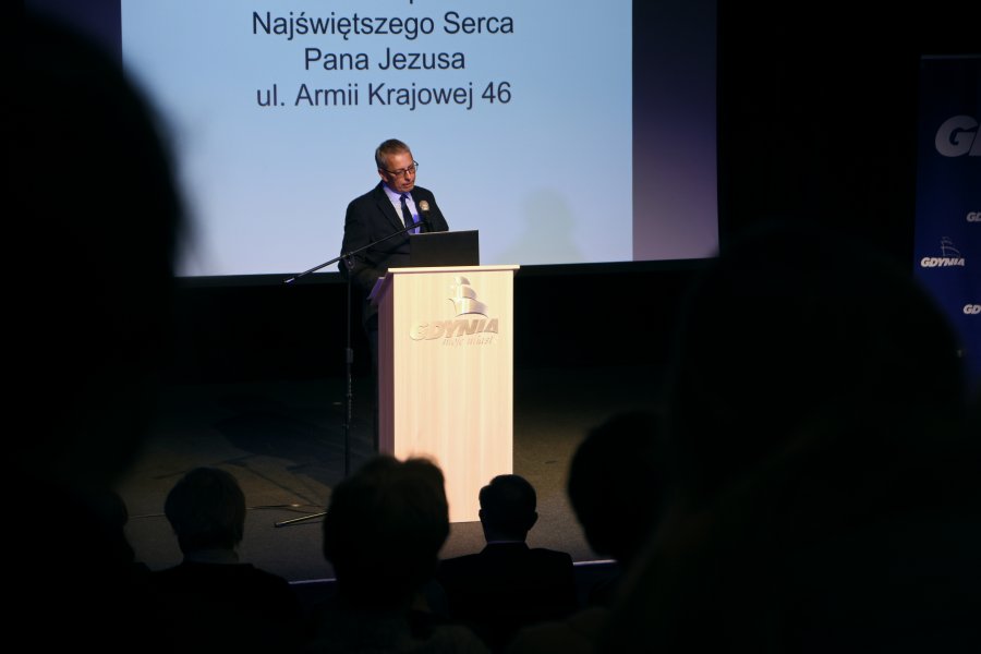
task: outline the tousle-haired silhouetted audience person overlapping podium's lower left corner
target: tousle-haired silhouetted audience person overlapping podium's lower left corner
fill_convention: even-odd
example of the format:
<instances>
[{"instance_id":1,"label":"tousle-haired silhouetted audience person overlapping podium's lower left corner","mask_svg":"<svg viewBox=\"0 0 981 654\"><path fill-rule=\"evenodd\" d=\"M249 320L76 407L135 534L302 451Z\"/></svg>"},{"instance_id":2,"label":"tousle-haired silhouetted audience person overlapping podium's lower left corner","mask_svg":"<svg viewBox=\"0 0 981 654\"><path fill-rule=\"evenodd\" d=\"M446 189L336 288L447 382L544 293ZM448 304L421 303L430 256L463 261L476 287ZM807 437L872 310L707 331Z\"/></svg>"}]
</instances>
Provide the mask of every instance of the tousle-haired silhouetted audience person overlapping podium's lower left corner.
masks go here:
<instances>
[{"instance_id":1,"label":"tousle-haired silhouetted audience person overlapping podium's lower left corner","mask_svg":"<svg viewBox=\"0 0 981 654\"><path fill-rule=\"evenodd\" d=\"M306 651L487 654L425 603L448 536L445 479L427 459L377 455L339 483L324 518L337 588L312 614Z\"/></svg>"}]
</instances>

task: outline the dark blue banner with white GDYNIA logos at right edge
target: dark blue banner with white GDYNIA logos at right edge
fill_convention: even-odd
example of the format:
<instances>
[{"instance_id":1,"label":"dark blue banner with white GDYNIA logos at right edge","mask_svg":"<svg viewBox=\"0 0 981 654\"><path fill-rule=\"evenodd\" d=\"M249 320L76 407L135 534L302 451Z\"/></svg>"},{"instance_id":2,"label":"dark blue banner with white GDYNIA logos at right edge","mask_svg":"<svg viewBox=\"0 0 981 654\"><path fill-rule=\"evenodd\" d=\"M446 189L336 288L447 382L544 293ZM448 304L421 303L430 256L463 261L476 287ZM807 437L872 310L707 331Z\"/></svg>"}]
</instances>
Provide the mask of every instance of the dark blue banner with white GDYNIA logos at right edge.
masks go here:
<instances>
[{"instance_id":1,"label":"dark blue banner with white GDYNIA logos at right edge","mask_svg":"<svg viewBox=\"0 0 981 654\"><path fill-rule=\"evenodd\" d=\"M981 56L924 57L913 266L981 391Z\"/></svg>"}]
</instances>

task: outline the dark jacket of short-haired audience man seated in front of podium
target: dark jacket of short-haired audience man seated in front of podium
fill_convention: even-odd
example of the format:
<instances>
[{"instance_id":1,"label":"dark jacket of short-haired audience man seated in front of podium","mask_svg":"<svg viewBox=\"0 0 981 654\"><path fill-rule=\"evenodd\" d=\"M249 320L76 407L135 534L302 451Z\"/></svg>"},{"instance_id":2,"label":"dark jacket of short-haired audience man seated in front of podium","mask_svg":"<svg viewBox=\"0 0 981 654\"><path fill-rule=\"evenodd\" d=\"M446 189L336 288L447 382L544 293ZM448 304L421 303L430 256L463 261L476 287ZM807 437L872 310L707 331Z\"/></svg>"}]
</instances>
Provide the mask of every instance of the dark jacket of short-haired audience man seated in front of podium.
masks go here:
<instances>
[{"instance_id":1,"label":"dark jacket of short-haired audience man seated in front of podium","mask_svg":"<svg viewBox=\"0 0 981 654\"><path fill-rule=\"evenodd\" d=\"M572 557L525 543L488 544L479 554L444 559L436 580L450 617L496 650L518 629L562 619L579 608Z\"/></svg>"}]
</instances>

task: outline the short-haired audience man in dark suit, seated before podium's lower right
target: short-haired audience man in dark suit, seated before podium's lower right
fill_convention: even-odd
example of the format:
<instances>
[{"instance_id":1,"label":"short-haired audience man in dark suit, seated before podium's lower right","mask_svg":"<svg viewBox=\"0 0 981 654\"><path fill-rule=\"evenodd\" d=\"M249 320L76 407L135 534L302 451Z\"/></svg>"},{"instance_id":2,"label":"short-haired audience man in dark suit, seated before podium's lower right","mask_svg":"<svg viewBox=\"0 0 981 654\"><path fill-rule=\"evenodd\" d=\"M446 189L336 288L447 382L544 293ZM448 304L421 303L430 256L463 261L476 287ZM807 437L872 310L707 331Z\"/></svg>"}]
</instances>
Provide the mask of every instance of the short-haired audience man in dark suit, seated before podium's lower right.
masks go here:
<instances>
[{"instance_id":1,"label":"short-haired audience man in dark suit, seated before podium's lower right","mask_svg":"<svg viewBox=\"0 0 981 654\"><path fill-rule=\"evenodd\" d=\"M449 615L469 625L494 650L522 627L565 618L579 608L572 557L529 547L538 519L534 487L517 474L501 474L481 488L480 519L486 546L444 559L436 579Z\"/></svg>"}]
</instances>

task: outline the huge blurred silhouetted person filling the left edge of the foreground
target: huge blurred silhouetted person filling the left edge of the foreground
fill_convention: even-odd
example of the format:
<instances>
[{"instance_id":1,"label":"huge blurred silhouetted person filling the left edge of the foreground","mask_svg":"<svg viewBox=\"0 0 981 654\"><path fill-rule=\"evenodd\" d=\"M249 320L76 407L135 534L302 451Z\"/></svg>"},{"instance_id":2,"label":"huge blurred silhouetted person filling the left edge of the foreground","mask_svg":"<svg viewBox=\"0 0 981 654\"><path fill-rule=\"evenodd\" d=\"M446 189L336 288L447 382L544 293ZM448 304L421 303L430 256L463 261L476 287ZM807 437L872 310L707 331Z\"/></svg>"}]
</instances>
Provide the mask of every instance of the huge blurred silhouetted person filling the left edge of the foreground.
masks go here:
<instances>
[{"instance_id":1,"label":"huge blurred silhouetted person filling the left edge of the foreground","mask_svg":"<svg viewBox=\"0 0 981 654\"><path fill-rule=\"evenodd\" d=\"M180 193L157 119L119 63L14 12L7 148L15 380L7 482L32 506L9 555L8 615L50 651L168 651L132 584L125 534L100 510L154 417L171 348ZM70 558L65 558L68 553ZM155 634L147 638L147 634Z\"/></svg>"}]
</instances>

